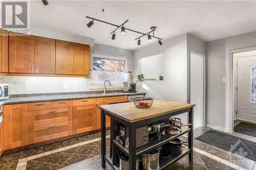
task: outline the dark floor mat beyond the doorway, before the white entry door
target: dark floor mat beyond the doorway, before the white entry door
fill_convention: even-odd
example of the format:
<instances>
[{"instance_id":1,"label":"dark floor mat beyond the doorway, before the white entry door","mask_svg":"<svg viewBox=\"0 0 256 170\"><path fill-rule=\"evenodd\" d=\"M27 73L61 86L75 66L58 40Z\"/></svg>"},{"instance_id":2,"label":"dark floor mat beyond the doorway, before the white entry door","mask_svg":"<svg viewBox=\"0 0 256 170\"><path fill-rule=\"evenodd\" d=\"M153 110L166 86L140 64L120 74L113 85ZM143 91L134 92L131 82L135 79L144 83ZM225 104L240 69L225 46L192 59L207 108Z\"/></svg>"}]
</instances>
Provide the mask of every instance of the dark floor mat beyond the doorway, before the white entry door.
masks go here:
<instances>
[{"instance_id":1,"label":"dark floor mat beyond the doorway, before the white entry door","mask_svg":"<svg viewBox=\"0 0 256 170\"><path fill-rule=\"evenodd\" d=\"M256 125L241 122L234 127L234 132L256 137Z\"/></svg>"}]
</instances>

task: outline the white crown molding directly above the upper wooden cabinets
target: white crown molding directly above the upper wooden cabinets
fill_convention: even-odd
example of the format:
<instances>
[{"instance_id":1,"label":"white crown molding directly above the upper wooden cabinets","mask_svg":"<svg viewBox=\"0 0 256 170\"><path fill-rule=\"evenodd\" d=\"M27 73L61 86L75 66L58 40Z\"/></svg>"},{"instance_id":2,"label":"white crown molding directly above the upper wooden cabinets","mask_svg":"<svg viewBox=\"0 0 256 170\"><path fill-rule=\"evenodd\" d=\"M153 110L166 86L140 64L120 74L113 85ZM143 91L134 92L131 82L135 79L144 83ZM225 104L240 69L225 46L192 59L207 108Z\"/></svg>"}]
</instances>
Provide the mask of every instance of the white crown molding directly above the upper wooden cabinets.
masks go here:
<instances>
[{"instance_id":1,"label":"white crown molding directly above the upper wooden cabinets","mask_svg":"<svg viewBox=\"0 0 256 170\"><path fill-rule=\"evenodd\" d=\"M54 30L42 29L38 27L30 26L30 34L39 37L53 38L63 41L70 41L82 44L94 45L94 39L88 37L79 37L67 33L62 33Z\"/></svg>"}]
</instances>

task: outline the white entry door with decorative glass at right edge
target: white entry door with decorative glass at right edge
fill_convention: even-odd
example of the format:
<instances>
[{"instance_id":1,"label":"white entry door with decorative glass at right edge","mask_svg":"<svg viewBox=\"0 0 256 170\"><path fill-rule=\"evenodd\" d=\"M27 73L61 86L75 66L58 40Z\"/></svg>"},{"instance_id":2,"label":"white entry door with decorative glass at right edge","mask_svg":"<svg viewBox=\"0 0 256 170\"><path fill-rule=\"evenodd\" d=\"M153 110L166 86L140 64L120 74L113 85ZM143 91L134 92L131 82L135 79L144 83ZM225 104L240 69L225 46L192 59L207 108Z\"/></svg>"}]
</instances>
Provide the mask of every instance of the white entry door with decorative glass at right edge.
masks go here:
<instances>
[{"instance_id":1,"label":"white entry door with decorative glass at right edge","mask_svg":"<svg viewBox=\"0 0 256 170\"><path fill-rule=\"evenodd\" d=\"M252 84L254 82L256 87L256 56L239 57L237 75L237 119L256 123L256 91L253 91Z\"/></svg>"}]
</instances>

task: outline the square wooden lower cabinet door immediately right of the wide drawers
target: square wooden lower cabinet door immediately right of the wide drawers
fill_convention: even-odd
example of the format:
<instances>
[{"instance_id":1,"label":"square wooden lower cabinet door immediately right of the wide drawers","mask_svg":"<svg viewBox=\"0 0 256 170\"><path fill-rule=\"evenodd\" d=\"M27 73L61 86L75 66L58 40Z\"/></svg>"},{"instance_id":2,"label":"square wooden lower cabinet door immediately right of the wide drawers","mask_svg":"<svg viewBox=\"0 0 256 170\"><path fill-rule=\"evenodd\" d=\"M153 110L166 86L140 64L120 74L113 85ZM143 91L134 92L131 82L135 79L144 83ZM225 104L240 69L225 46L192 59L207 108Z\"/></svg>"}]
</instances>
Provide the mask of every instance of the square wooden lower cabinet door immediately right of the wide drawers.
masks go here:
<instances>
[{"instance_id":1,"label":"square wooden lower cabinet door immediately right of the wide drawers","mask_svg":"<svg viewBox=\"0 0 256 170\"><path fill-rule=\"evenodd\" d=\"M96 106L73 107L73 134L96 130Z\"/></svg>"}]
</instances>

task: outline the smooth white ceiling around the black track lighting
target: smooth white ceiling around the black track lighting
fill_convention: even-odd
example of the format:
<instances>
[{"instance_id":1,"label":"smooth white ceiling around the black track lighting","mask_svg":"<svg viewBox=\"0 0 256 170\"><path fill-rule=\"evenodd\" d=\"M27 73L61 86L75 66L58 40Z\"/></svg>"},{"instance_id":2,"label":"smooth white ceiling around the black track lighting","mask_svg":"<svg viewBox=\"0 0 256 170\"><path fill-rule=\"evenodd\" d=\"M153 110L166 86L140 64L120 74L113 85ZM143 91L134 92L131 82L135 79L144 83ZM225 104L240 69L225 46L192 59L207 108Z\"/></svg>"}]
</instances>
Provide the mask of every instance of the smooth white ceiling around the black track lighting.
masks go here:
<instances>
[{"instance_id":1,"label":"smooth white ceiling around the black track lighting","mask_svg":"<svg viewBox=\"0 0 256 170\"><path fill-rule=\"evenodd\" d=\"M31 25L95 39L95 43L134 50L155 43L147 37L137 45L134 39L140 34L126 31L116 32L116 40L110 33L115 27L95 21L89 29L86 16L120 25L140 32L150 31L156 26L155 36L167 39L190 33L205 41L236 36L256 31L256 1L41 1L31 2Z\"/></svg>"}]
</instances>

